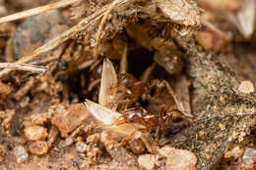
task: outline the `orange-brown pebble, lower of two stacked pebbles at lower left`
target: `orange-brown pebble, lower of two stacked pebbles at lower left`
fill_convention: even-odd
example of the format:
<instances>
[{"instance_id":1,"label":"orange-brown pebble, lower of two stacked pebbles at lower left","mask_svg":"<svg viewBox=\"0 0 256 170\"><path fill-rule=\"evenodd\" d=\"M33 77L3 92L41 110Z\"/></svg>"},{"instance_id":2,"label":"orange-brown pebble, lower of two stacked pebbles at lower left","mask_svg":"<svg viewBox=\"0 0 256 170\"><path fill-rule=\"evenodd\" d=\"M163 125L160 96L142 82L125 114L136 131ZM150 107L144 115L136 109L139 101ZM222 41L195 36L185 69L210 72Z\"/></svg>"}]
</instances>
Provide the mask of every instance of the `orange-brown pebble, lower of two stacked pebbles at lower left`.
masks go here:
<instances>
[{"instance_id":1,"label":"orange-brown pebble, lower of two stacked pebbles at lower left","mask_svg":"<svg viewBox=\"0 0 256 170\"><path fill-rule=\"evenodd\" d=\"M33 154L44 154L48 151L48 144L45 141L32 142L29 148Z\"/></svg>"}]
</instances>

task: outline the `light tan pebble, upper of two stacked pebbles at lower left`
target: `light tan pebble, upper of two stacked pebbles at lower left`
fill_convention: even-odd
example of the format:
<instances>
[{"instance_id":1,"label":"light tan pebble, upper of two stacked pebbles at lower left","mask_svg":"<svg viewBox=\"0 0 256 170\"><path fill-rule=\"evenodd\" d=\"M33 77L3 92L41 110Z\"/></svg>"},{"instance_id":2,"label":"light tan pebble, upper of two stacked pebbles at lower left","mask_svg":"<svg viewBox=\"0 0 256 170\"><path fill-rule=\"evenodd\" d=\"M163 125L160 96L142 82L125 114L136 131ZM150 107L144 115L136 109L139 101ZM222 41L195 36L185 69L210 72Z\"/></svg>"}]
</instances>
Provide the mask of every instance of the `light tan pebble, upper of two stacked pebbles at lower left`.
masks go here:
<instances>
[{"instance_id":1,"label":"light tan pebble, upper of two stacked pebbles at lower left","mask_svg":"<svg viewBox=\"0 0 256 170\"><path fill-rule=\"evenodd\" d=\"M27 127L25 130L25 136L30 141L43 141L47 137L47 129L41 126Z\"/></svg>"}]
</instances>

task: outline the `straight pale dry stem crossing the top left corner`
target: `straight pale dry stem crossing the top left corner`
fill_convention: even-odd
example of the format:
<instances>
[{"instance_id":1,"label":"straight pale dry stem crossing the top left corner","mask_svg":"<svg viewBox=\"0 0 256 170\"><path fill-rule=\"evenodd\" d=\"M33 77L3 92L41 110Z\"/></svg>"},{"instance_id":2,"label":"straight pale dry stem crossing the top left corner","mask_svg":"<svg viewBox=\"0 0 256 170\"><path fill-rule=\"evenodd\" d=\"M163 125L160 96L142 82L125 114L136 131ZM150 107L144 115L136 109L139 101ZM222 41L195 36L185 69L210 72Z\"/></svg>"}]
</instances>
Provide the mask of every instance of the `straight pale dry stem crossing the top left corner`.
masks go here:
<instances>
[{"instance_id":1,"label":"straight pale dry stem crossing the top left corner","mask_svg":"<svg viewBox=\"0 0 256 170\"><path fill-rule=\"evenodd\" d=\"M41 7L33 8L31 10L23 11L20 13L15 13L13 15L9 15L9 16L0 18L0 24L20 20L20 19L23 19L26 17L31 17L33 15L37 15L37 14L43 13L48 10L67 7L77 1L78 0L62 0L62 1L52 3L52 4L47 4L47 5L44 5Z\"/></svg>"}]
</instances>

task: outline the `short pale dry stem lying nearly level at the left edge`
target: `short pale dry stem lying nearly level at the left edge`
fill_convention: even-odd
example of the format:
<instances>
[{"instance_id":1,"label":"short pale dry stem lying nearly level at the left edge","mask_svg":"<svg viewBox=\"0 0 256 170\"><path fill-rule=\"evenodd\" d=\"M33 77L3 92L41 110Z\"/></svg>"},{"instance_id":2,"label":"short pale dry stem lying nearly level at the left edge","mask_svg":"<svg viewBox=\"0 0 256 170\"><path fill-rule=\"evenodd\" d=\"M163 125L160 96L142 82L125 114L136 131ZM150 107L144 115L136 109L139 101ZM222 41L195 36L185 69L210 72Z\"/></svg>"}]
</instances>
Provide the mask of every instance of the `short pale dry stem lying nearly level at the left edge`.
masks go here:
<instances>
[{"instance_id":1,"label":"short pale dry stem lying nearly level at the left edge","mask_svg":"<svg viewBox=\"0 0 256 170\"><path fill-rule=\"evenodd\" d=\"M45 73L47 71L46 68L40 68L36 66L32 66L30 64L19 64L19 63L0 63L1 69L13 69L13 70L23 70L30 71L35 73Z\"/></svg>"}]
</instances>

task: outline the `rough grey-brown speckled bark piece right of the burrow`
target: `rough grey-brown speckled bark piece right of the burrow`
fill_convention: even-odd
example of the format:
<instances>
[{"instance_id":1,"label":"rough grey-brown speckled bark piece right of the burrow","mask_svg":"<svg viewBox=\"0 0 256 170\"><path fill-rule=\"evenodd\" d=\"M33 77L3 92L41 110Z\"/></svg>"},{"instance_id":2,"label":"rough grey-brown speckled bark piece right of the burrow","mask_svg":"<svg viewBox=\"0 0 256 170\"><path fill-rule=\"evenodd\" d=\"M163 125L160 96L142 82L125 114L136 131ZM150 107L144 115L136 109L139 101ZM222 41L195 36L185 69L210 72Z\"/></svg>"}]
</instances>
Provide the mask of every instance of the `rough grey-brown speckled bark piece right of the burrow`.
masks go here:
<instances>
[{"instance_id":1,"label":"rough grey-brown speckled bark piece right of the burrow","mask_svg":"<svg viewBox=\"0 0 256 170\"><path fill-rule=\"evenodd\" d=\"M175 36L175 35L174 35ZM256 95L242 93L236 74L220 58L195 45L193 38L175 36L175 42L188 55L188 74L200 88L202 119L169 139L171 145L188 149L198 158L197 169L209 170L223 157L229 144L243 141L255 124Z\"/></svg>"}]
</instances>

